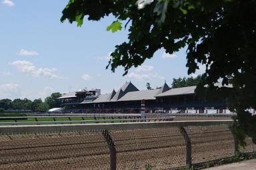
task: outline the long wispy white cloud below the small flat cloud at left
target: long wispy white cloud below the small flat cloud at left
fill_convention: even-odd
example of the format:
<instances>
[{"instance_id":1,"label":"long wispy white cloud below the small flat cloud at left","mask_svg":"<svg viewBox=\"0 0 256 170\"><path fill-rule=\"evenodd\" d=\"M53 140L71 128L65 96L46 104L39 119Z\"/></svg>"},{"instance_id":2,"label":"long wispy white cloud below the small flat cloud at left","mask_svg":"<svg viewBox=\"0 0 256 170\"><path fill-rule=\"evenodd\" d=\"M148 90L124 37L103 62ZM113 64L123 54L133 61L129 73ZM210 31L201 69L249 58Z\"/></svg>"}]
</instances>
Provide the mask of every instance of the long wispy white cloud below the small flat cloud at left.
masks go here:
<instances>
[{"instance_id":1,"label":"long wispy white cloud below the small flat cloud at left","mask_svg":"<svg viewBox=\"0 0 256 170\"><path fill-rule=\"evenodd\" d=\"M53 73L57 70L56 68L36 68L32 62L26 60L16 60L11 65L17 66L20 72L31 74L35 77L62 78Z\"/></svg>"}]
</instances>

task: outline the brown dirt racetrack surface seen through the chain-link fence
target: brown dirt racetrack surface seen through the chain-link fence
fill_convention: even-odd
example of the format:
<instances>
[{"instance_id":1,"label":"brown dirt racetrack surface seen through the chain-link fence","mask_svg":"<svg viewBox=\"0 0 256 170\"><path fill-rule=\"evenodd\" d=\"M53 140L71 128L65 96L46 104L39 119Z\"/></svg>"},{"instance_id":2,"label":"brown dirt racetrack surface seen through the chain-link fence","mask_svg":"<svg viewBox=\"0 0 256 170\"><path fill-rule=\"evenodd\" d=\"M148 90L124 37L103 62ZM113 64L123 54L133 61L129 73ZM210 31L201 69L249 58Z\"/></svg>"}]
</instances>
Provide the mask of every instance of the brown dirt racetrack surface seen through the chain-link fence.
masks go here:
<instances>
[{"instance_id":1,"label":"brown dirt racetrack surface seen through the chain-link fence","mask_svg":"<svg viewBox=\"0 0 256 170\"><path fill-rule=\"evenodd\" d=\"M229 157L233 135L226 126L190 126L192 162ZM179 128L110 131L117 169L169 169L185 165ZM253 151L255 145L248 145ZM255 150L254 150L255 151ZM109 147L98 132L0 135L0 169L109 169Z\"/></svg>"}]
</instances>

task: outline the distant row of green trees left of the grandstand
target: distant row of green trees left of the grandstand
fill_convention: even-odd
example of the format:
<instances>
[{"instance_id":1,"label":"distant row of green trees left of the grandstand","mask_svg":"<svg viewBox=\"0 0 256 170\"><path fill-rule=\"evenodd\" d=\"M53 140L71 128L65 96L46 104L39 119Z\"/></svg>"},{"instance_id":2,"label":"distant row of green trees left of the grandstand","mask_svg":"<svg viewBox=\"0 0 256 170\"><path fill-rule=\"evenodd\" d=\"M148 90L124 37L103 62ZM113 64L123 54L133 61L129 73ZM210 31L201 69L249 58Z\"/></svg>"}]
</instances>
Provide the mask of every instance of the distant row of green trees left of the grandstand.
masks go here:
<instances>
[{"instance_id":1,"label":"distant row of green trees left of the grandstand","mask_svg":"<svg viewBox=\"0 0 256 170\"><path fill-rule=\"evenodd\" d=\"M61 97L59 92L55 92L42 100L41 98L35 100L24 99L2 99L0 100L0 112L5 110L31 110L32 112L46 112L50 108L59 108L60 101L57 99Z\"/></svg>"}]
</instances>

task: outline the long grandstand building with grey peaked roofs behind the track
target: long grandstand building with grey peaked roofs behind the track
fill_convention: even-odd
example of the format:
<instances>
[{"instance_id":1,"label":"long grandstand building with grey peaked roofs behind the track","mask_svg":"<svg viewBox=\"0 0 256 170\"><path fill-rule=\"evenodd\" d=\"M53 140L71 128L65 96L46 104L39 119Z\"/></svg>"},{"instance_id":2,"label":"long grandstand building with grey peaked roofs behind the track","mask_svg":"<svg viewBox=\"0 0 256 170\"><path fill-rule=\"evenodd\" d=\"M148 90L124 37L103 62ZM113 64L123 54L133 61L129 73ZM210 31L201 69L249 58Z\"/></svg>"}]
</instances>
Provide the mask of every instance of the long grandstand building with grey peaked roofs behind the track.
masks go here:
<instances>
[{"instance_id":1,"label":"long grandstand building with grey peaked roofs behind the track","mask_svg":"<svg viewBox=\"0 0 256 170\"><path fill-rule=\"evenodd\" d=\"M145 112L186 112L186 110L225 110L225 101L203 102L195 95L196 86L170 88L166 82L153 90L138 90L131 82L126 82L110 94L100 94L96 90L70 92L59 99L70 112L84 113L139 113L141 100L145 101Z\"/></svg>"}]
</instances>

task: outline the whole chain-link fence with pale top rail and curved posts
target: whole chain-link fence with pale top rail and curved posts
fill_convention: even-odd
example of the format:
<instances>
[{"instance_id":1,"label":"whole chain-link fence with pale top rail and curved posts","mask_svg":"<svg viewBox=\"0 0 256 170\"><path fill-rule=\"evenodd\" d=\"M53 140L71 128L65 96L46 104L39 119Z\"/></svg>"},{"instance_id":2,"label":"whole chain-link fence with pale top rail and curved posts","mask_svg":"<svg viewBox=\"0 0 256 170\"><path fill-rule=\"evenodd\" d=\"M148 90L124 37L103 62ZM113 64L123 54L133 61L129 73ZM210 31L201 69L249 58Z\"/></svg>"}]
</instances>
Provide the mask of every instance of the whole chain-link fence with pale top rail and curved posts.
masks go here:
<instances>
[{"instance_id":1,"label":"whole chain-link fence with pale top rail and curved posts","mask_svg":"<svg viewBox=\"0 0 256 170\"><path fill-rule=\"evenodd\" d=\"M0 169L171 169L230 157L232 121L0 127ZM255 145L244 152L252 152Z\"/></svg>"}]
</instances>

